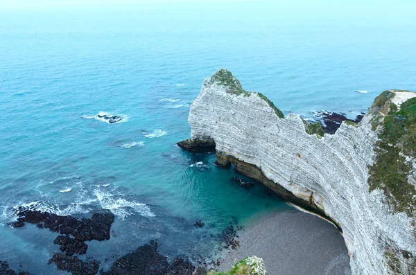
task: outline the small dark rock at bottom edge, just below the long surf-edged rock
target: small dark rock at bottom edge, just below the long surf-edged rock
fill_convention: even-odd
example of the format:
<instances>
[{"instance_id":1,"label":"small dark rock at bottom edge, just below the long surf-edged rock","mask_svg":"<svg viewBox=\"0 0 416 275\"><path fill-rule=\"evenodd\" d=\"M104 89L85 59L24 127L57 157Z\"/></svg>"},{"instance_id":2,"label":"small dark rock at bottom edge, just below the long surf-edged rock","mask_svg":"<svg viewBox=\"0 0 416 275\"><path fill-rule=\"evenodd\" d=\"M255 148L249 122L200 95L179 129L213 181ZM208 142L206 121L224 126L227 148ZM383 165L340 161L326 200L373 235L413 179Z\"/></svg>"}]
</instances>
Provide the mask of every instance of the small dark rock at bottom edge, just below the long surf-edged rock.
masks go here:
<instances>
[{"instance_id":1,"label":"small dark rock at bottom edge, just below the long surf-edged rock","mask_svg":"<svg viewBox=\"0 0 416 275\"><path fill-rule=\"evenodd\" d=\"M80 260L77 257L71 257L64 254L54 254L49 260L48 265L52 262L60 270L71 272L73 275L94 275L98 273L101 262L99 260Z\"/></svg>"}]
</instances>

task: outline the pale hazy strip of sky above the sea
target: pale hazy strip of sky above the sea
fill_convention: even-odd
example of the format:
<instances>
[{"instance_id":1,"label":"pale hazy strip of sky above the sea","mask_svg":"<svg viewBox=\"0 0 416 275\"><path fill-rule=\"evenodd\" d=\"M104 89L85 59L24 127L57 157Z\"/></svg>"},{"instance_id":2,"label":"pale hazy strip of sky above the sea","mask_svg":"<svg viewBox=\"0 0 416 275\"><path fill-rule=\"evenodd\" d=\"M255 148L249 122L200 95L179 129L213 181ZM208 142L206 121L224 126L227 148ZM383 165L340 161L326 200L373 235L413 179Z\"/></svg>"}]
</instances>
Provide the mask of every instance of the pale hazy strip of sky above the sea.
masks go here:
<instances>
[{"instance_id":1,"label":"pale hazy strip of sky above the sea","mask_svg":"<svg viewBox=\"0 0 416 275\"><path fill-rule=\"evenodd\" d=\"M102 9L125 7L160 9L272 8L278 12L310 15L349 13L361 15L413 15L416 0L0 0L0 12L8 10Z\"/></svg>"}]
</instances>

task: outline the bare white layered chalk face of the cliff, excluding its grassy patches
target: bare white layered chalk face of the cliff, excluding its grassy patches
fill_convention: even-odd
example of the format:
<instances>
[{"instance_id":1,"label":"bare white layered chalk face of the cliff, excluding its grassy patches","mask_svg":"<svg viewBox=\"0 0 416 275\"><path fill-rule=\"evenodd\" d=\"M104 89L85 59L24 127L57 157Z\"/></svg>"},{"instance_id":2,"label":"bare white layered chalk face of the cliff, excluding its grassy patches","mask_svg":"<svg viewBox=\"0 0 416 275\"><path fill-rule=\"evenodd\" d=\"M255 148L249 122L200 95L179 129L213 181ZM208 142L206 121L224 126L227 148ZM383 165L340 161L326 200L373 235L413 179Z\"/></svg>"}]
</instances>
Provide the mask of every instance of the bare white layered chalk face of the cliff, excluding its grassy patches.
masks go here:
<instances>
[{"instance_id":1,"label":"bare white layered chalk face of the cliff, excluding its grassy patches","mask_svg":"<svg viewBox=\"0 0 416 275\"><path fill-rule=\"evenodd\" d=\"M397 100L412 96L401 93ZM383 191L370 192L367 184L378 139L372 118L367 114L358 127L343 123L319 139L306 134L300 116L278 118L259 94L233 94L211 79L191 105L189 124L191 140L214 139L217 152L257 166L334 220L343 229L353 274L410 274L402 265L406 253L410 260L416 255L416 220L392 211Z\"/></svg>"}]
</instances>

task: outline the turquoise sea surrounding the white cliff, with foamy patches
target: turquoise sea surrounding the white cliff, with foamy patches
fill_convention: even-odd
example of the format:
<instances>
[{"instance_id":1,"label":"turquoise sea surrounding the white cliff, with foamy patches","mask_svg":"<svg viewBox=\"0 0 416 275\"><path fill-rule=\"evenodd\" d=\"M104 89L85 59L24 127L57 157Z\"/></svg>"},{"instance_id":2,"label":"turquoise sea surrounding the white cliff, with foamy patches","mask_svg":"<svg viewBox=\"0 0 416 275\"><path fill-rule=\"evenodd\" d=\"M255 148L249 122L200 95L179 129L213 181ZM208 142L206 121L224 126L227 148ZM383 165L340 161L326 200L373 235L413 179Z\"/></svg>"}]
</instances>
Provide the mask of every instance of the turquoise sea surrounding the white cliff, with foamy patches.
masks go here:
<instances>
[{"instance_id":1,"label":"turquoise sea surrounding the white cliff, with foamy patches","mask_svg":"<svg viewBox=\"0 0 416 275\"><path fill-rule=\"evenodd\" d=\"M55 233L8 227L22 204L62 215L111 209L116 238L87 252L113 255L103 267L153 238L166 254L205 256L216 244L210 234L229 222L284 211L265 188L233 184L213 154L175 146L189 137L202 81L225 67L285 114L355 116L385 89L416 90L413 18L300 20L249 4L2 11L0 260L58 274L46 265Z\"/></svg>"}]
</instances>

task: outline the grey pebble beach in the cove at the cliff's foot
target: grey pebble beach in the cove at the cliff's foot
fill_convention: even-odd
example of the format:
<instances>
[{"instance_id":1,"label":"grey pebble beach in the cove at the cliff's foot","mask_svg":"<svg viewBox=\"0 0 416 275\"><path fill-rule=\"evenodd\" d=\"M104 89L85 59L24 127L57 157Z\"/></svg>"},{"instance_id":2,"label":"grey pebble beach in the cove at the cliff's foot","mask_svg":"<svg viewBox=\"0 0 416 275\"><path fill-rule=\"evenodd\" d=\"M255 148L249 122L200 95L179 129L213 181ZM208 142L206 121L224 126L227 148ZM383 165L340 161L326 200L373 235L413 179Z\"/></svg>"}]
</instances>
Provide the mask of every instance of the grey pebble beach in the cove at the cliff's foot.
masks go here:
<instances>
[{"instance_id":1,"label":"grey pebble beach in the cove at the cliff's foot","mask_svg":"<svg viewBox=\"0 0 416 275\"><path fill-rule=\"evenodd\" d=\"M295 230L294 230L295 229ZM272 211L253 218L239 231L240 247L227 251L218 271L242 258L263 258L269 275L349 275L343 236L333 224L297 209Z\"/></svg>"}]
</instances>

